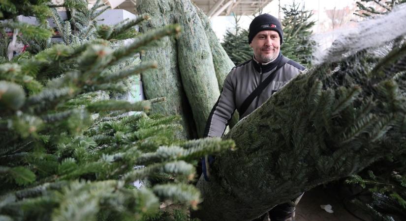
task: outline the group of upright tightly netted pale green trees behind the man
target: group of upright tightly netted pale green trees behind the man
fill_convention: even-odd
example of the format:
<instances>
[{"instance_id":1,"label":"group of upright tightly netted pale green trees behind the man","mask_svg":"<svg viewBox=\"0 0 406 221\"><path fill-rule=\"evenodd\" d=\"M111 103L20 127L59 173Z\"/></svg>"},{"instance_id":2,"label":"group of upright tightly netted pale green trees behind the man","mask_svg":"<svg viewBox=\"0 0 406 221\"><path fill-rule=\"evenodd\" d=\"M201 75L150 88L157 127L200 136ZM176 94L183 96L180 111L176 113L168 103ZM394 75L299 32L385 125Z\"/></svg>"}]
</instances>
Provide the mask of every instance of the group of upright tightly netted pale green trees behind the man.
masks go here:
<instances>
[{"instance_id":1,"label":"group of upright tightly netted pale green trees behind the man","mask_svg":"<svg viewBox=\"0 0 406 221\"><path fill-rule=\"evenodd\" d=\"M157 49L141 55L141 59L161 64L156 70L142 73L146 97L166 97L168 101L153 105L153 111L180 115L185 137L203 136L233 62L206 15L190 0L138 0L137 11L152 17L140 28L144 32L172 23L179 23L182 28L176 40L163 38Z\"/></svg>"}]
</instances>

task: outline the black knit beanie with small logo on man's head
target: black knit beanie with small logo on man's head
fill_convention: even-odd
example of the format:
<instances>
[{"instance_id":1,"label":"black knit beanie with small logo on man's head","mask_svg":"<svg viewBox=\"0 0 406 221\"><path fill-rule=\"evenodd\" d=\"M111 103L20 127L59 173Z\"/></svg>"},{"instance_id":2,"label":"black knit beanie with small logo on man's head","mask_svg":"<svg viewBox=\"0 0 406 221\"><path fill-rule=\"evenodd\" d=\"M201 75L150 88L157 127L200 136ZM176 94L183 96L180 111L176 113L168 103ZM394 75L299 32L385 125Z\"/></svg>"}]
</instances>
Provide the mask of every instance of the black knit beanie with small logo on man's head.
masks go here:
<instances>
[{"instance_id":1,"label":"black knit beanie with small logo on man's head","mask_svg":"<svg viewBox=\"0 0 406 221\"><path fill-rule=\"evenodd\" d=\"M281 44L283 42L283 31L281 22L270 14L262 14L256 16L250 24L250 33L248 34L248 44L251 44L255 35L262 30L274 30L279 33Z\"/></svg>"}]
</instances>

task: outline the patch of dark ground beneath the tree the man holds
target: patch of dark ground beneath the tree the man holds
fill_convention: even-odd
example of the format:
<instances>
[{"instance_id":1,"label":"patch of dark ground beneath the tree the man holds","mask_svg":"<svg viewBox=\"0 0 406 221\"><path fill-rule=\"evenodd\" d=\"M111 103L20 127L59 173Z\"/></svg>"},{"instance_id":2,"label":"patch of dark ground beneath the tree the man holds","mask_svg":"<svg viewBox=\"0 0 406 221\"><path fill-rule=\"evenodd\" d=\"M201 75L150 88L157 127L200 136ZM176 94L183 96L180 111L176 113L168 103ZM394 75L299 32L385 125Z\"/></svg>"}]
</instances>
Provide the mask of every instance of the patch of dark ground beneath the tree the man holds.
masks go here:
<instances>
[{"instance_id":1,"label":"patch of dark ground beneath the tree the man holds","mask_svg":"<svg viewBox=\"0 0 406 221\"><path fill-rule=\"evenodd\" d=\"M296 207L295 221L371 221L360 210L351 207L348 203L347 208L362 220L354 217L344 208L342 194L336 193L332 188L317 187L306 192ZM340 196L339 196L340 195ZM334 213L327 213L320 208L320 205L332 205Z\"/></svg>"}]
</instances>

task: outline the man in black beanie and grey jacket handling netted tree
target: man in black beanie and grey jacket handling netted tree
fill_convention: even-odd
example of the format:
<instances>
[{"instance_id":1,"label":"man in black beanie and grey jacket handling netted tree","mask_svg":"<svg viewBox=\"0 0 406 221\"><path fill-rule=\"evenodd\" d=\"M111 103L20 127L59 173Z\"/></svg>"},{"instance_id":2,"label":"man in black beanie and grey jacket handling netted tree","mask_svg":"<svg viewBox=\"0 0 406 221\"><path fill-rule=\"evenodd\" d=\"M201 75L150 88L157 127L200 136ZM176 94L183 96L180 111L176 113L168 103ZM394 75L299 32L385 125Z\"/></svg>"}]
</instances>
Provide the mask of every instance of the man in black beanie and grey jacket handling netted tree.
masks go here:
<instances>
[{"instance_id":1,"label":"man in black beanie and grey jacket handling netted tree","mask_svg":"<svg viewBox=\"0 0 406 221\"><path fill-rule=\"evenodd\" d=\"M252 20L248 43L253 50L253 58L234 67L227 75L219 100L207 121L204 137L221 137L236 109L242 119L305 70L305 67L281 54L282 42L283 32L277 18L262 14ZM202 164L203 175L208 180L208 159ZM294 205L294 202L278 205L264 216L269 216L271 221L285 220L291 217Z\"/></svg>"}]
</instances>

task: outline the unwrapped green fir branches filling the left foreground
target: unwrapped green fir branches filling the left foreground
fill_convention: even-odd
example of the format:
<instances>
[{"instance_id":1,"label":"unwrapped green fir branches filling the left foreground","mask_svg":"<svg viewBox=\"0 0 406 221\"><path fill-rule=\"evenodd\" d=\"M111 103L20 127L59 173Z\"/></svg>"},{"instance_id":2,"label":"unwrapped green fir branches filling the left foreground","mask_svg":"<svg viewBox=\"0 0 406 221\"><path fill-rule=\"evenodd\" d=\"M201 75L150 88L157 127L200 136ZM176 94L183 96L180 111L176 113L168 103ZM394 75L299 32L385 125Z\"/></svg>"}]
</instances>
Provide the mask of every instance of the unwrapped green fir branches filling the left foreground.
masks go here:
<instances>
[{"instance_id":1,"label":"unwrapped green fir branches filling the left foreground","mask_svg":"<svg viewBox=\"0 0 406 221\"><path fill-rule=\"evenodd\" d=\"M137 54L181 28L140 34L134 26L148 15L99 26L97 16L107 9L99 1L90 8L65 1L65 21L48 6L7 0L0 6L1 48L9 42L4 30L17 28L30 48L10 61L5 50L0 54L0 219L153 220L163 202L195 208L201 198L189 184L191 163L233 142L176 138L178 116L148 115L163 98L110 99L127 91L128 76L160 65L139 62ZM19 22L18 15L39 24ZM50 39L48 16L62 41Z\"/></svg>"}]
</instances>

